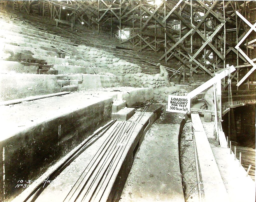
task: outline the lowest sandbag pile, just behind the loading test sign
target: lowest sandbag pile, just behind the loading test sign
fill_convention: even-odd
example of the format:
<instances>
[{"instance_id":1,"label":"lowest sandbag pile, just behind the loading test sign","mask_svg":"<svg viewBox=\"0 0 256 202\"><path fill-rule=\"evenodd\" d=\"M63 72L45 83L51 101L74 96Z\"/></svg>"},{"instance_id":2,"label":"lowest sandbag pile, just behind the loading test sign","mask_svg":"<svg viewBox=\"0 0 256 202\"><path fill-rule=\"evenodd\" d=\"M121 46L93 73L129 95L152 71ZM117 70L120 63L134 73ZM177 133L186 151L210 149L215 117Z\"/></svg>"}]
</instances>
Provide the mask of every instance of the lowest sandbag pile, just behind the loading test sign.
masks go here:
<instances>
[{"instance_id":1,"label":"lowest sandbag pile, just behind the loading test sign","mask_svg":"<svg viewBox=\"0 0 256 202\"><path fill-rule=\"evenodd\" d=\"M173 82L170 82L172 86L161 87L154 89L154 99L168 101L168 95L185 95L185 89L178 89Z\"/></svg>"}]
</instances>

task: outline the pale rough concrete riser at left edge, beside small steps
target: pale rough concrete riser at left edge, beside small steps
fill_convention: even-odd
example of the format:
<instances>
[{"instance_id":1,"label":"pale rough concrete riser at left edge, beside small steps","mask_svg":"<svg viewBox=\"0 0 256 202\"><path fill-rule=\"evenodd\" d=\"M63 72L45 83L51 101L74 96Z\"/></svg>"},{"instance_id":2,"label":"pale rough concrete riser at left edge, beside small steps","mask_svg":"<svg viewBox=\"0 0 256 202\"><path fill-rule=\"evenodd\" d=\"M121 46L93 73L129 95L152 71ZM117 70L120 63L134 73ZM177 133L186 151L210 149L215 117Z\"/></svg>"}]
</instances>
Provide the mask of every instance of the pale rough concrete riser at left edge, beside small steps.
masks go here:
<instances>
[{"instance_id":1,"label":"pale rough concrete riser at left edge, beside small steps","mask_svg":"<svg viewBox=\"0 0 256 202\"><path fill-rule=\"evenodd\" d=\"M0 101L61 92L56 75L0 74Z\"/></svg>"}]
</instances>

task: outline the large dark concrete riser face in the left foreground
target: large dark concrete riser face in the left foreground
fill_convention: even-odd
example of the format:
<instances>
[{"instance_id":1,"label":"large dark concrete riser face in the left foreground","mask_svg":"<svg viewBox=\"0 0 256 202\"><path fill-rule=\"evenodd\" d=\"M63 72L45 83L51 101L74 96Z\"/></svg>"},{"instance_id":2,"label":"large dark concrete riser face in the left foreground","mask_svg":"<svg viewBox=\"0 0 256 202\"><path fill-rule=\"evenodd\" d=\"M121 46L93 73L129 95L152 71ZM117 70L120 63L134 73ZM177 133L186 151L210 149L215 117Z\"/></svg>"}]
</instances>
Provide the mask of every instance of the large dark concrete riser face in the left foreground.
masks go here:
<instances>
[{"instance_id":1,"label":"large dark concrete riser face in the left foreground","mask_svg":"<svg viewBox=\"0 0 256 202\"><path fill-rule=\"evenodd\" d=\"M0 142L0 190L5 184L5 198L15 197L22 192L24 188L15 188L19 184L18 180L36 180L72 148L109 121L111 112L112 98L84 104L75 111L56 115L55 118L38 123ZM2 194L0 192L0 196Z\"/></svg>"}]
</instances>

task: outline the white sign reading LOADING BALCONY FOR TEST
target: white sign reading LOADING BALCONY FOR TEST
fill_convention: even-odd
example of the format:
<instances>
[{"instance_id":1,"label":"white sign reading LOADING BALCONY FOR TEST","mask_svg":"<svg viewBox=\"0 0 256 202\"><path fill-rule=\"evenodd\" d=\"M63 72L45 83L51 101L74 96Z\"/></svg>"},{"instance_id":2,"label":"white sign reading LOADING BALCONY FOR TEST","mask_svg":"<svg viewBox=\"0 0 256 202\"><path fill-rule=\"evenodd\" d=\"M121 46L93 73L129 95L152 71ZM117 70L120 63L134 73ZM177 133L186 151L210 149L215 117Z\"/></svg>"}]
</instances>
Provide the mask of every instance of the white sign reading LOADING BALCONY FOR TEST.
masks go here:
<instances>
[{"instance_id":1,"label":"white sign reading LOADING BALCONY FOR TEST","mask_svg":"<svg viewBox=\"0 0 256 202\"><path fill-rule=\"evenodd\" d=\"M190 97L168 95L167 110L169 112L186 113L190 111Z\"/></svg>"}]
</instances>

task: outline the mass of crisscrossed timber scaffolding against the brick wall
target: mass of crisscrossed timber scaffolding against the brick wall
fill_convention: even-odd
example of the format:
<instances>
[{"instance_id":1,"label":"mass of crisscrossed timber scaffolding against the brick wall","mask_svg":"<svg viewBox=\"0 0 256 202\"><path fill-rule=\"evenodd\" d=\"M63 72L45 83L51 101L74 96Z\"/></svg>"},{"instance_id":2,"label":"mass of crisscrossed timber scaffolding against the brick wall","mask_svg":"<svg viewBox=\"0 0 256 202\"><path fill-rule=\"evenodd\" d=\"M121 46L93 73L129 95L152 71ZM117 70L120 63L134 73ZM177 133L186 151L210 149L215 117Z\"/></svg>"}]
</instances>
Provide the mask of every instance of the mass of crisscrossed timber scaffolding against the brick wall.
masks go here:
<instances>
[{"instance_id":1,"label":"mass of crisscrossed timber scaffolding against the brick wall","mask_svg":"<svg viewBox=\"0 0 256 202\"><path fill-rule=\"evenodd\" d=\"M2 1L6 2L6 1ZM112 36L123 35L120 44L136 51L158 53L166 64L177 61L178 67L193 74L214 76L226 68L237 67L231 79L238 82L239 72L250 67L235 48L249 28L236 11L250 21L250 1L200 0L88 0L88 1L13 1L15 10L38 13L51 20L63 20L61 10L69 12L73 24L84 24ZM31 7L31 6L32 7ZM228 36L228 37L227 37ZM231 37L230 37L231 36ZM247 37L240 48L251 57L255 39ZM245 74L246 72L244 72ZM222 82L224 88L227 82Z\"/></svg>"}]
</instances>

